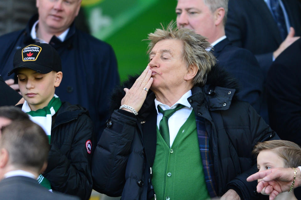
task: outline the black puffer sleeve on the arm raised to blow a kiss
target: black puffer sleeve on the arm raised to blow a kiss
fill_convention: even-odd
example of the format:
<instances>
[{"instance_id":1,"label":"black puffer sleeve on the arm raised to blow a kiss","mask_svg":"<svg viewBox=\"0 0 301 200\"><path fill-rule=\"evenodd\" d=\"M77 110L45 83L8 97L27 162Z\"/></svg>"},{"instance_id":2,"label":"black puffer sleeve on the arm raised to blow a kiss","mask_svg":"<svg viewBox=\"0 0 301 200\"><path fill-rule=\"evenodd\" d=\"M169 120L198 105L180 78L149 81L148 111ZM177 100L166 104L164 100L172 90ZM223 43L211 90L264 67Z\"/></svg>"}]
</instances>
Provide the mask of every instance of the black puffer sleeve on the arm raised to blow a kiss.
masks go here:
<instances>
[{"instance_id":1,"label":"black puffer sleeve on the arm raised to blow a kiss","mask_svg":"<svg viewBox=\"0 0 301 200\"><path fill-rule=\"evenodd\" d=\"M134 114L125 110L113 112L92 157L93 189L97 192L121 196L135 129Z\"/></svg>"}]
</instances>

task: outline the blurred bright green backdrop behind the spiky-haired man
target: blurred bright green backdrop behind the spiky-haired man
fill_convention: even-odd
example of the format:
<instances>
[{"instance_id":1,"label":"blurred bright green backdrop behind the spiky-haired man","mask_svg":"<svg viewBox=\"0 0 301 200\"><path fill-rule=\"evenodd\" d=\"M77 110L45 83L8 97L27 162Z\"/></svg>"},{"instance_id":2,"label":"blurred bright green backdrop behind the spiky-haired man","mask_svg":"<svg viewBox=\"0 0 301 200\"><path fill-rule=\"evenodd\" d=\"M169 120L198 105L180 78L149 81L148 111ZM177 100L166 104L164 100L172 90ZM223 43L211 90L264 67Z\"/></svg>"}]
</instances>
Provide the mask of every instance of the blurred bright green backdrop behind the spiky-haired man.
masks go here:
<instances>
[{"instance_id":1,"label":"blurred bright green backdrop behind the spiky-haired man","mask_svg":"<svg viewBox=\"0 0 301 200\"><path fill-rule=\"evenodd\" d=\"M177 0L83 0L91 34L109 43L116 54L120 79L148 64L147 34L176 19Z\"/></svg>"}]
</instances>

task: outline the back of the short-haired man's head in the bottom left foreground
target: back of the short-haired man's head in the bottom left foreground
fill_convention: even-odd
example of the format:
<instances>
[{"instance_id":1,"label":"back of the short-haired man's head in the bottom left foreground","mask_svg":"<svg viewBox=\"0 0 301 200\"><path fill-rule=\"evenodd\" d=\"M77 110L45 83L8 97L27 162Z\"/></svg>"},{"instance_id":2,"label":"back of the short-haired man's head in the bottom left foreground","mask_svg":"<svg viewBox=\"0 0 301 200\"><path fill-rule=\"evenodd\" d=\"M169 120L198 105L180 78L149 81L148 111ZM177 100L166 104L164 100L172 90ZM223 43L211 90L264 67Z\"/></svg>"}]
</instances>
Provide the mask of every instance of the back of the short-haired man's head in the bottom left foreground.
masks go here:
<instances>
[{"instance_id":1,"label":"back of the short-haired man's head in the bottom left foreground","mask_svg":"<svg viewBox=\"0 0 301 200\"><path fill-rule=\"evenodd\" d=\"M13 170L24 170L38 177L47 166L49 151L43 129L27 119L12 121L1 131L0 179Z\"/></svg>"}]
</instances>

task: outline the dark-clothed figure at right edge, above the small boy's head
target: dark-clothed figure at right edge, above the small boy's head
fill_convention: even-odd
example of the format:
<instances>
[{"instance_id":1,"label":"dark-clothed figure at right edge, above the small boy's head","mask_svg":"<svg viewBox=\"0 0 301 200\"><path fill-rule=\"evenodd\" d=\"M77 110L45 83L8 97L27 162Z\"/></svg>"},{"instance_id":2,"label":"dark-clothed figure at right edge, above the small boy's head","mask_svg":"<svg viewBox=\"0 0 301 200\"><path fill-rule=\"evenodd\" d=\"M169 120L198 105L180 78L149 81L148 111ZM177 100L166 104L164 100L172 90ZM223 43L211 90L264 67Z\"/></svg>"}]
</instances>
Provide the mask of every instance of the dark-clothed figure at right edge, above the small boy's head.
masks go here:
<instances>
[{"instance_id":1,"label":"dark-clothed figure at right edge, above the small boy's head","mask_svg":"<svg viewBox=\"0 0 301 200\"><path fill-rule=\"evenodd\" d=\"M296 56L293 56L296 55ZM301 38L283 51L267 75L270 125L283 140L301 146Z\"/></svg>"}]
</instances>

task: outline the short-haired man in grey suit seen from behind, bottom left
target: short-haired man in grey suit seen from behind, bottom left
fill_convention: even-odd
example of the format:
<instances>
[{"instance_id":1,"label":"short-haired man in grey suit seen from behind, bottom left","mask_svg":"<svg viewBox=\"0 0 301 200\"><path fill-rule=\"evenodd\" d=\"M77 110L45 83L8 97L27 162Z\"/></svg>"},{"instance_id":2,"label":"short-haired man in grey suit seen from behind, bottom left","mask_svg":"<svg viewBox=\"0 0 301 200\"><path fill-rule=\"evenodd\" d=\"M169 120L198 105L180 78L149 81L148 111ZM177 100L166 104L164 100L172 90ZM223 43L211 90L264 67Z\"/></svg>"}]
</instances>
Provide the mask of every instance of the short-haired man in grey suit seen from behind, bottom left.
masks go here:
<instances>
[{"instance_id":1,"label":"short-haired man in grey suit seen from behind, bottom left","mask_svg":"<svg viewBox=\"0 0 301 200\"><path fill-rule=\"evenodd\" d=\"M38 184L36 179L47 166L49 151L48 138L40 126L29 119L16 120L3 126L1 131L1 199L78 200L77 197L52 193Z\"/></svg>"}]
</instances>

